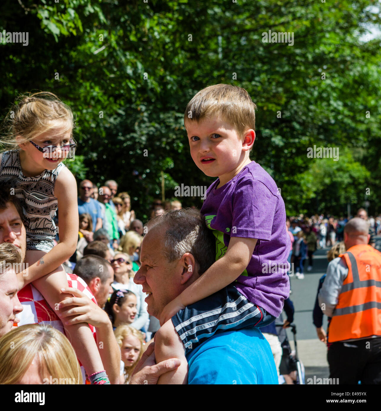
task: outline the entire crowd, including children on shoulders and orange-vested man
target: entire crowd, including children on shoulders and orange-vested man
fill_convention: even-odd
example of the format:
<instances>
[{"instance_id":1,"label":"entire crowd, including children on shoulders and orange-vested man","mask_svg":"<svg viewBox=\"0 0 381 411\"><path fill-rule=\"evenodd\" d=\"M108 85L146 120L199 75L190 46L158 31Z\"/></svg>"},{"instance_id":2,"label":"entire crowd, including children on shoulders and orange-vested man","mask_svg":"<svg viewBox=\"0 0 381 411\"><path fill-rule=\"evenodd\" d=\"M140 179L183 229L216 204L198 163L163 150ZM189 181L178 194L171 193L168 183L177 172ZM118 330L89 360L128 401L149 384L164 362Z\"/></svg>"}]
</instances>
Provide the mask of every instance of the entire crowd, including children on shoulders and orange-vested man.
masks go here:
<instances>
[{"instance_id":1,"label":"entire crowd, including children on shoulders and orange-vested man","mask_svg":"<svg viewBox=\"0 0 381 411\"><path fill-rule=\"evenodd\" d=\"M380 219L368 224L363 209L349 221L287 219L276 183L249 157L255 109L232 85L192 98L184 117L191 157L218 178L201 210L155 200L143 224L114 180L83 180L78 196L63 163L76 146L70 108L49 92L21 97L2 142L12 149L0 154L0 383L277 384L274 320L284 308L281 326L293 321L290 268L303 279L306 258L311 270L315 250L340 240L346 253L331 261L318 294L332 317L331 353L370 337L377 354ZM358 292L366 287L367 301ZM316 327L324 337L318 319ZM20 356L25 363L12 367ZM343 362L331 363L342 375ZM377 372L351 381L377 381Z\"/></svg>"}]
</instances>

